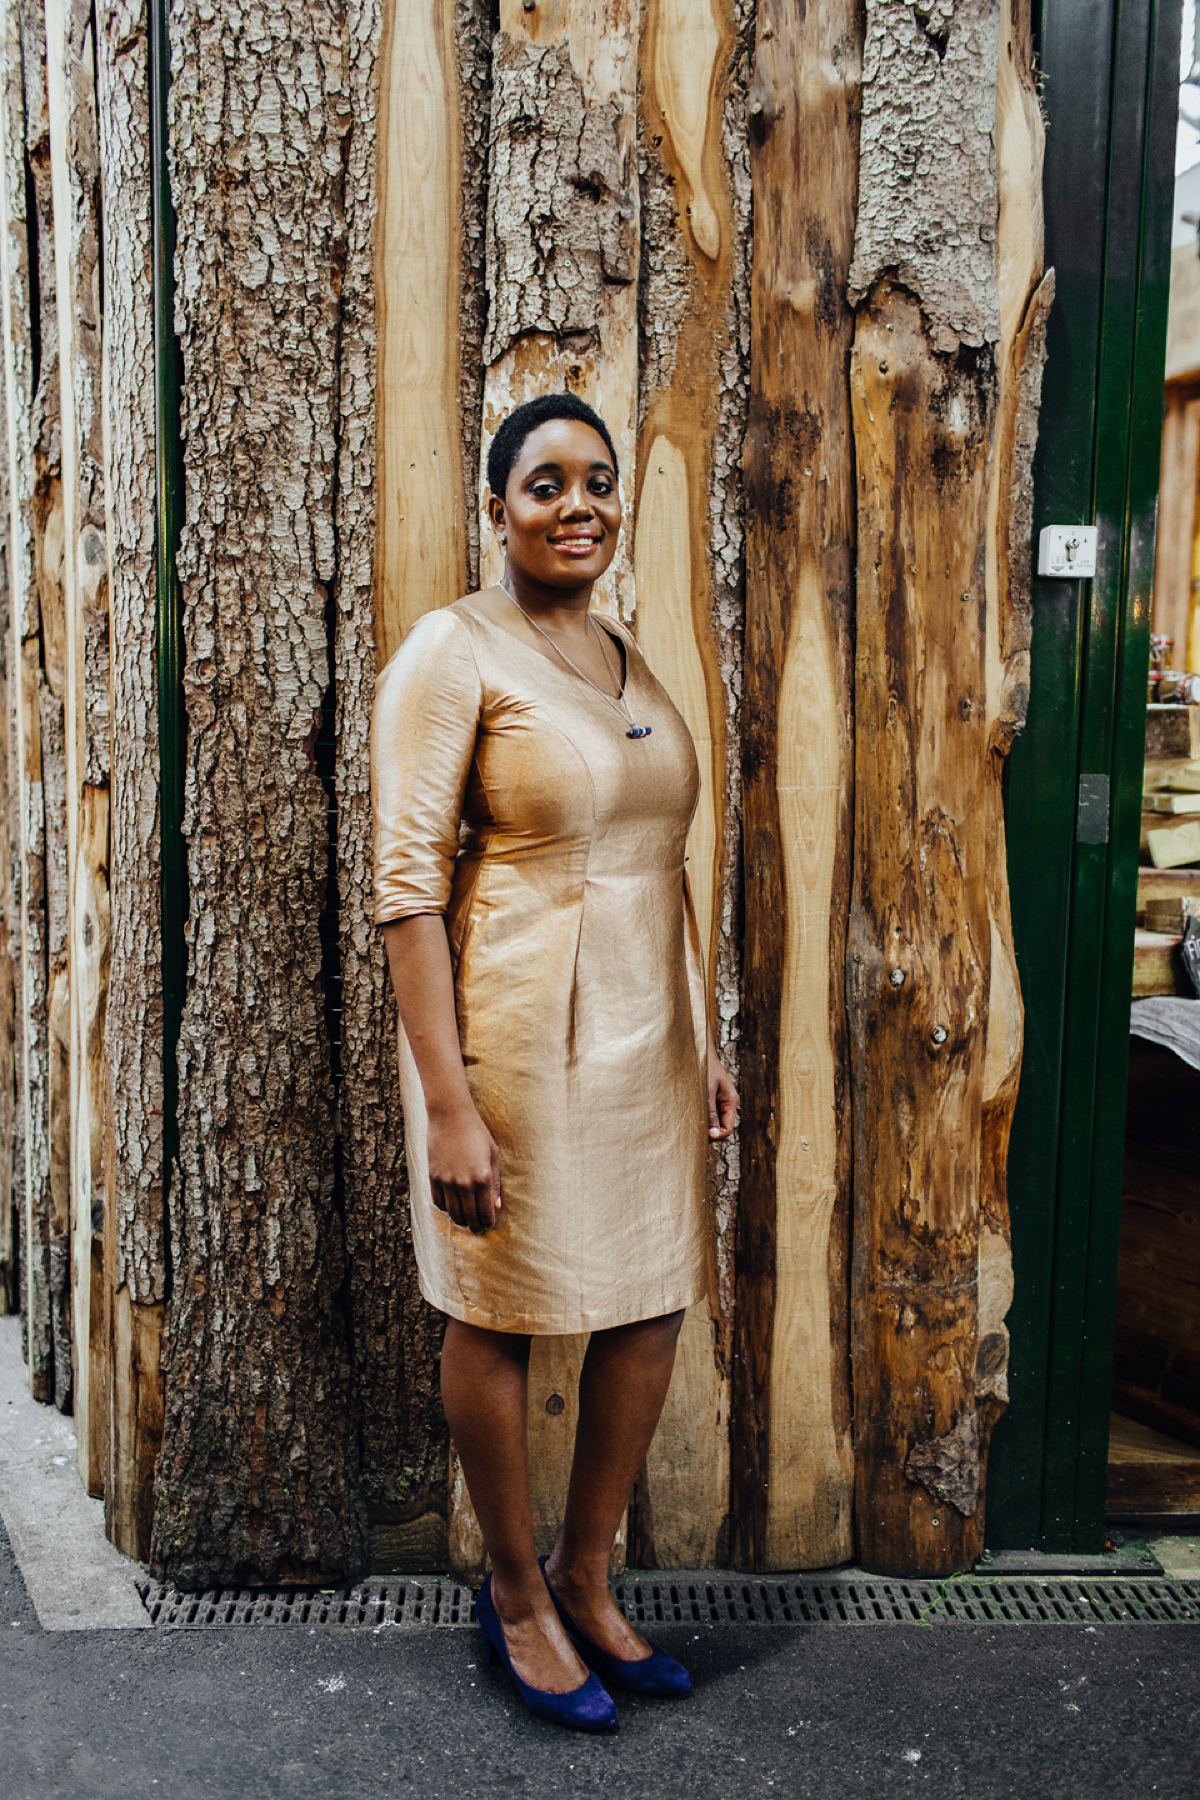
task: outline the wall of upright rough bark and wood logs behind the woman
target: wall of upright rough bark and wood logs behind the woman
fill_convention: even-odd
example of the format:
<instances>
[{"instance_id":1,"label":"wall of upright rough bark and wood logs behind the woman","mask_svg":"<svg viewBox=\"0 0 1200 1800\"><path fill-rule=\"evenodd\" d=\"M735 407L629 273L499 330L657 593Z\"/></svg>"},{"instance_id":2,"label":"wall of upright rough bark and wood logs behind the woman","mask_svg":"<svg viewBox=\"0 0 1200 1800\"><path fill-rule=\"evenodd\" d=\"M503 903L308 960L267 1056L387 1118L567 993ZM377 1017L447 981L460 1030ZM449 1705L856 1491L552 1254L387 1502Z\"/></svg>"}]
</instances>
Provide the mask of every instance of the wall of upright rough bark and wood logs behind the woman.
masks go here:
<instances>
[{"instance_id":1,"label":"wall of upright rough bark and wood logs behind the woman","mask_svg":"<svg viewBox=\"0 0 1200 1800\"><path fill-rule=\"evenodd\" d=\"M599 603L700 752L743 1089L617 1561L964 1566L1006 1402L1000 769L1052 295L1025 0L175 5L185 920L146 5L4 0L2 47L0 1305L110 1535L184 1584L482 1570L412 1267L367 736L408 626L498 572L500 418L570 389L621 459ZM534 1348L543 1546L583 1348Z\"/></svg>"}]
</instances>

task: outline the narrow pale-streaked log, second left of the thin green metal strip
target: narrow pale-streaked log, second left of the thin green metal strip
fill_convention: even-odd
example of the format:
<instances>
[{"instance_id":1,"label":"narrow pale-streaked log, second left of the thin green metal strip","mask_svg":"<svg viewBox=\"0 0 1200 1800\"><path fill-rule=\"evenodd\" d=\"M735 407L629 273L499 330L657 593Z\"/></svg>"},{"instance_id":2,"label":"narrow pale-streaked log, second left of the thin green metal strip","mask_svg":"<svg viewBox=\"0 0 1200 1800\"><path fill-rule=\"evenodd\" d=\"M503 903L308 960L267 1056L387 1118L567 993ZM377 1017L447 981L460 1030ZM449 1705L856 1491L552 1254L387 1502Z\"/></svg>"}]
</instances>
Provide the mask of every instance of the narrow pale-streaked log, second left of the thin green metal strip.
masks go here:
<instances>
[{"instance_id":1,"label":"narrow pale-streaked log, second left of the thin green metal strip","mask_svg":"<svg viewBox=\"0 0 1200 1800\"><path fill-rule=\"evenodd\" d=\"M63 592L67 661L67 862L70 1015L70 1253L74 1413L81 1474L104 1492L104 1318L92 1316L94 1141L103 1143L103 1057L88 1057L108 967L108 585L99 319L99 142L90 0L47 0L47 94L61 383ZM90 776L90 779L88 779ZM103 787L97 785L97 779ZM104 842L95 841L103 824ZM81 864L83 839L86 864ZM77 893L83 884L90 900ZM77 904L79 902L79 904ZM103 934L97 931L103 914ZM79 929L77 929L79 927ZM95 1120L95 1130L94 1130ZM95 1195L103 1195L103 1168ZM103 1202L101 1202L103 1204ZM92 1418L95 1400L97 1417Z\"/></svg>"}]
</instances>

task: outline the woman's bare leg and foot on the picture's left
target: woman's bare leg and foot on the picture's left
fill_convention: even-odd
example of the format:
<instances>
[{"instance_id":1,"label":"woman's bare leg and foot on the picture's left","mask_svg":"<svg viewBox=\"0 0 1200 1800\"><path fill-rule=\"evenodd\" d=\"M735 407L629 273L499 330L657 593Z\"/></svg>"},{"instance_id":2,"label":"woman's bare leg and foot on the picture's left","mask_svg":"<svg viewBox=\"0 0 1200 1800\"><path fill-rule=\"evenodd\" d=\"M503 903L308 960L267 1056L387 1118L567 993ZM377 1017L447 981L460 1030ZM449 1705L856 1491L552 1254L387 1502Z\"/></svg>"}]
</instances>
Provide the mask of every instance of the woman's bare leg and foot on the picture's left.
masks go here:
<instances>
[{"instance_id":1,"label":"woman's bare leg and foot on the picture's left","mask_svg":"<svg viewBox=\"0 0 1200 1800\"><path fill-rule=\"evenodd\" d=\"M491 1591L509 1656L531 1687L569 1694L588 1672L558 1622L534 1552L527 1390L527 1337L450 1319L441 1354L443 1406L491 1557Z\"/></svg>"}]
</instances>

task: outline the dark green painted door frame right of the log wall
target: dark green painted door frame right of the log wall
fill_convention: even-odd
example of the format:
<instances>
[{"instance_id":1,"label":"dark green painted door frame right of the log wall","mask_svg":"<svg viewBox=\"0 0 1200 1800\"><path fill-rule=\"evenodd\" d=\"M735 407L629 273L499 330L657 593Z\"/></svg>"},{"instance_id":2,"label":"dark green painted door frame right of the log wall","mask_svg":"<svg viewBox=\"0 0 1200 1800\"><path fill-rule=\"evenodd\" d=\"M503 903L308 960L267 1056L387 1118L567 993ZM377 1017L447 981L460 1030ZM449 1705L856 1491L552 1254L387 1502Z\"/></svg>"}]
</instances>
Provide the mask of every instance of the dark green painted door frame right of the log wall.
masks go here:
<instances>
[{"instance_id":1,"label":"dark green painted door frame right of the log wall","mask_svg":"<svg viewBox=\"0 0 1200 1800\"><path fill-rule=\"evenodd\" d=\"M1099 551L1094 581L1034 580L1029 720L1007 769L1025 1055L997 1550L1090 1552L1105 1532L1178 40L1178 0L1040 0L1056 299L1034 544L1045 524L1096 524ZM1106 801L1105 842L1078 823L1083 778Z\"/></svg>"}]
</instances>

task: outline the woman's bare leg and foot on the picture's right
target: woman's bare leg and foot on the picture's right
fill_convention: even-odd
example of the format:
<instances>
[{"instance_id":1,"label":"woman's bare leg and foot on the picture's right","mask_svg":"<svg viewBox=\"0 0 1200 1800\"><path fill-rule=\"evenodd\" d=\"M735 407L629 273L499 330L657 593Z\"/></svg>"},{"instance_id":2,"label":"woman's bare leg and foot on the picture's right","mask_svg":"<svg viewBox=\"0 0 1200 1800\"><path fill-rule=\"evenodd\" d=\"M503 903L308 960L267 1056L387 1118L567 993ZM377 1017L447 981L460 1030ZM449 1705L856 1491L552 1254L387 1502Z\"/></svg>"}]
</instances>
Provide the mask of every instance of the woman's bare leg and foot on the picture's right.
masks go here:
<instances>
[{"instance_id":1,"label":"woman's bare leg and foot on the picture's right","mask_svg":"<svg viewBox=\"0 0 1200 1800\"><path fill-rule=\"evenodd\" d=\"M671 1386L682 1312L594 1332L579 1375L567 1512L547 1559L554 1593L587 1634L624 1661L649 1645L617 1611L608 1557Z\"/></svg>"}]
</instances>

